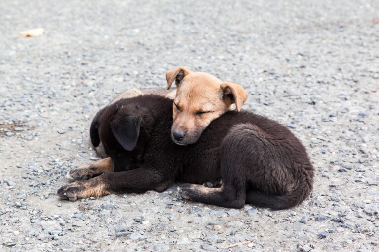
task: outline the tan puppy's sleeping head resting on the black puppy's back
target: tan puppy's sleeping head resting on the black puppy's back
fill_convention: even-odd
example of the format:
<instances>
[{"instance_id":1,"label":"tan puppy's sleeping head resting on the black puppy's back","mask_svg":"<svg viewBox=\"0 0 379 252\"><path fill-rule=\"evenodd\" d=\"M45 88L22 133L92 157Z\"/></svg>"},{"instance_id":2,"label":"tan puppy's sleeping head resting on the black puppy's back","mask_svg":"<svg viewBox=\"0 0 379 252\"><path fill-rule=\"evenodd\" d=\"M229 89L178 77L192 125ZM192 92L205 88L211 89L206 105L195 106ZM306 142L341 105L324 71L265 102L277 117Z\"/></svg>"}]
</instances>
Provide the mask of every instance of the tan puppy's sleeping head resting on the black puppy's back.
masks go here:
<instances>
[{"instance_id":1,"label":"tan puppy's sleeping head resting on the black puppy's back","mask_svg":"<svg viewBox=\"0 0 379 252\"><path fill-rule=\"evenodd\" d=\"M203 130L235 104L240 111L247 92L238 84L184 67L166 73L167 89L176 84L171 138L179 145L195 143Z\"/></svg>"}]
</instances>

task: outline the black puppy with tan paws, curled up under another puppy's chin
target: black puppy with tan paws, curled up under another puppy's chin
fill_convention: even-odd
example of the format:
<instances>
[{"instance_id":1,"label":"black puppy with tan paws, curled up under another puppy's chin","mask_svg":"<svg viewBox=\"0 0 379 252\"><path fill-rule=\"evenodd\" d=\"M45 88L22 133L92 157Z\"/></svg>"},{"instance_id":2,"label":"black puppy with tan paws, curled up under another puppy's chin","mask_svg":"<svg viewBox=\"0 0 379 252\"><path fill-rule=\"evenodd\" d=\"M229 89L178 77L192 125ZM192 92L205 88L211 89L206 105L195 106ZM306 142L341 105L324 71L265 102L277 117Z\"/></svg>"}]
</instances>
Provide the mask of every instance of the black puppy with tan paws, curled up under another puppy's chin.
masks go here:
<instances>
[{"instance_id":1,"label":"black puppy with tan paws, curled up under another puppy's chin","mask_svg":"<svg viewBox=\"0 0 379 252\"><path fill-rule=\"evenodd\" d=\"M286 127L251 112L230 111L195 144L179 146L170 137L172 102L145 95L104 108L91 126L91 140L95 146L101 141L110 158L71 171L76 179L93 178L65 185L58 195L161 192L179 181L192 183L181 187L185 198L230 208L247 203L286 209L308 197L313 167ZM221 188L197 185L218 178Z\"/></svg>"}]
</instances>

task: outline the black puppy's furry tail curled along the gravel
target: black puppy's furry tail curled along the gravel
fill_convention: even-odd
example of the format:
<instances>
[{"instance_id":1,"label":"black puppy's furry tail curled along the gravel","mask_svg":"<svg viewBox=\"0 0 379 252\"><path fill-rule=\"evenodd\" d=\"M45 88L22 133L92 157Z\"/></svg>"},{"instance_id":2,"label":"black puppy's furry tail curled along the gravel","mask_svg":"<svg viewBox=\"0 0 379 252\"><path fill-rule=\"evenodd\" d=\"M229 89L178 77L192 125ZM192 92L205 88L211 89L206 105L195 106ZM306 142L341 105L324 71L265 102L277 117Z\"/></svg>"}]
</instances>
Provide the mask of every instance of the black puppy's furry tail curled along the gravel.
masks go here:
<instances>
[{"instance_id":1,"label":"black puppy's furry tail curled along the gravel","mask_svg":"<svg viewBox=\"0 0 379 252\"><path fill-rule=\"evenodd\" d=\"M299 205L312 191L312 176L304 176L297 186L285 195L267 195L259 191L246 192L246 204L272 210L289 209Z\"/></svg>"}]
</instances>

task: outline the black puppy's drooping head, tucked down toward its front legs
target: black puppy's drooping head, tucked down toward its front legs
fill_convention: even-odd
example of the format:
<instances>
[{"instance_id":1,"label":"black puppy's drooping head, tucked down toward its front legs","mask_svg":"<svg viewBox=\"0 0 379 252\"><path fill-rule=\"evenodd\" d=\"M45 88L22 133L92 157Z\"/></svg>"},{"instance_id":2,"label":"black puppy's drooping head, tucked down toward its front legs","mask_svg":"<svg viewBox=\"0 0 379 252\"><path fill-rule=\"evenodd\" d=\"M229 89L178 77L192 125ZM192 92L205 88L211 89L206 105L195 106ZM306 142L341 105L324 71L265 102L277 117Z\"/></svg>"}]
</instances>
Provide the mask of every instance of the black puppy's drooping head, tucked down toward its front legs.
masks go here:
<instances>
[{"instance_id":1,"label":"black puppy's drooping head, tucked down toward its front legs","mask_svg":"<svg viewBox=\"0 0 379 252\"><path fill-rule=\"evenodd\" d=\"M135 169L143 163L146 142L144 108L138 105L115 103L110 105L98 122L92 122L91 141L100 141L112 159L114 172Z\"/></svg>"}]
</instances>

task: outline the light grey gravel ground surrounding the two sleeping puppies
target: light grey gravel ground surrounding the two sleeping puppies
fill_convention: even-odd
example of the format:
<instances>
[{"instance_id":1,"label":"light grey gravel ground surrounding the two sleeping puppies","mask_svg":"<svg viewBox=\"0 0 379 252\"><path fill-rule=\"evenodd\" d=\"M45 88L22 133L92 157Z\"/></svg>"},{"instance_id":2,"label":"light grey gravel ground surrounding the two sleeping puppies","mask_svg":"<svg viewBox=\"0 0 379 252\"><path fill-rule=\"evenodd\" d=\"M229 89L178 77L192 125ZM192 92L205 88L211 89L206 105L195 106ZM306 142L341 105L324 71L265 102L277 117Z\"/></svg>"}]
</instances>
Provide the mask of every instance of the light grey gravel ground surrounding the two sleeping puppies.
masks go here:
<instances>
[{"instance_id":1,"label":"light grey gravel ground surrounding the two sleeping puppies","mask_svg":"<svg viewBox=\"0 0 379 252\"><path fill-rule=\"evenodd\" d=\"M0 1L0 251L379 251L376 18L378 0ZM180 65L241 84L245 108L292 128L316 170L308 201L224 209L176 186L58 199L97 159L95 112Z\"/></svg>"}]
</instances>

